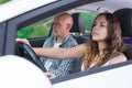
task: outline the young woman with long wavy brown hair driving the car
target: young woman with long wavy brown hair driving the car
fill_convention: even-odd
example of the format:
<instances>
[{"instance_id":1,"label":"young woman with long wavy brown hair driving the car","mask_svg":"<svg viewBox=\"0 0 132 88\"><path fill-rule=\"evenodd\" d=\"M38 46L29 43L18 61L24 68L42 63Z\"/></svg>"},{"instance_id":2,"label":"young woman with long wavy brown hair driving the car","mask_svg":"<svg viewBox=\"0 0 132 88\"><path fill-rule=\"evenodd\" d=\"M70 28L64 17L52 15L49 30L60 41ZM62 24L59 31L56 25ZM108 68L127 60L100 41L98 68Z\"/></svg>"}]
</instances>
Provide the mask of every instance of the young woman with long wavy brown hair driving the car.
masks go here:
<instances>
[{"instance_id":1,"label":"young woman with long wavy brown hair driving the car","mask_svg":"<svg viewBox=\"0 0 132 88\"><path fill-rule=\"evenodd\" d=\"M90 38L88 44L70 48L33 47L33 50L38 56L51 58L84 57L84 70L127 61L122 53L125 45L121 38L120 22L112 13L100 13L96 18ZM19 41L29 43L26 40Z\"/></svg>"}]
</instances>

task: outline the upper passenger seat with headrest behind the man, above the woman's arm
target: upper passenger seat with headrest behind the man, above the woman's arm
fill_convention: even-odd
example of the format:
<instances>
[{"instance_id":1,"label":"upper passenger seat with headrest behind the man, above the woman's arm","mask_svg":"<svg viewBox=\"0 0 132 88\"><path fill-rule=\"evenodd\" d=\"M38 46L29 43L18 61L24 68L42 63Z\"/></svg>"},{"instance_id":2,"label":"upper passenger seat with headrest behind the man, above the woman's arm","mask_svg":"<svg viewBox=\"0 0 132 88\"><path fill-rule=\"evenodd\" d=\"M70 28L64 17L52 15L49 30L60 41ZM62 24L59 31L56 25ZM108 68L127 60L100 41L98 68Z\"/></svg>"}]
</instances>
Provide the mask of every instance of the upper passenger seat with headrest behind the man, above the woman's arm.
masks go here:
<instances>
[{"instance_id":1,"label":"upper passenger seat with headrest behind the man, above the woman's arm","mask_svg":"<svg viewBox=\"0 0 132 88\"><path fill-rule=\"evenodd\" d=\"M87 43L90 35L85 33L85 26L80 13L72 14L74 24L72 26L70 33L78 44Z\"/></svg>"}]
</instances>

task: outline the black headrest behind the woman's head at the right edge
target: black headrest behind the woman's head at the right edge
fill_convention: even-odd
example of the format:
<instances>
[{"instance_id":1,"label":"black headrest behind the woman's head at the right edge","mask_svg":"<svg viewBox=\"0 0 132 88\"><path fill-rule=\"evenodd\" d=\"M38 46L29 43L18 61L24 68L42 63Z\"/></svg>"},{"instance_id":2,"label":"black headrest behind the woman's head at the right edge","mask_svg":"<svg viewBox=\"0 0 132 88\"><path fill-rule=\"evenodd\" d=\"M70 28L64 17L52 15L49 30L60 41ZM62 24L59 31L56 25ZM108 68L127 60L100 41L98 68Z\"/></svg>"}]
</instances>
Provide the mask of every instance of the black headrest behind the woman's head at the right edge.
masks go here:
<instances>
[{"instance_id":1,"label":"black headrest behind the woman's head at the right edge","mask_svg":"<svg viewBox=\"0 0 132 88\"><path fill-rule=\"evenodd\" d=\"M122 36L132 37L132 9L125 8L113 12L121 23Z\"/></svg>"}]
</instances>

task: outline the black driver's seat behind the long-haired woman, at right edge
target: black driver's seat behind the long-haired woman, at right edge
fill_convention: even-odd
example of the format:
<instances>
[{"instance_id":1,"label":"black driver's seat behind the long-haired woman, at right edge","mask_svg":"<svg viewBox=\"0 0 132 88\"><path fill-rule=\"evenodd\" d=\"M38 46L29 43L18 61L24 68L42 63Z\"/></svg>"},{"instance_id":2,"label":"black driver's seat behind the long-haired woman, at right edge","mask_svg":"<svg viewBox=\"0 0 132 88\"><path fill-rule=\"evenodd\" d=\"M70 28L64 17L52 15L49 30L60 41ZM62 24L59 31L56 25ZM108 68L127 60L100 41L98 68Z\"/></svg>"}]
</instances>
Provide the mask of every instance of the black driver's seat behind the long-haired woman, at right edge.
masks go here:
<instances>
[{"instance_id":1,"label":"black driver's seat behind the long-haired woman, at right edge","mask_svg":"<svg viewBox=\"0 0 132 88\"><path fill-rule=\"evenodd\" d=\"M113 12L121 23L123 41L127 43L127 48L123 52L128 59L132 59L132 9L125 8Z\"/></svg>"}]
</instances>

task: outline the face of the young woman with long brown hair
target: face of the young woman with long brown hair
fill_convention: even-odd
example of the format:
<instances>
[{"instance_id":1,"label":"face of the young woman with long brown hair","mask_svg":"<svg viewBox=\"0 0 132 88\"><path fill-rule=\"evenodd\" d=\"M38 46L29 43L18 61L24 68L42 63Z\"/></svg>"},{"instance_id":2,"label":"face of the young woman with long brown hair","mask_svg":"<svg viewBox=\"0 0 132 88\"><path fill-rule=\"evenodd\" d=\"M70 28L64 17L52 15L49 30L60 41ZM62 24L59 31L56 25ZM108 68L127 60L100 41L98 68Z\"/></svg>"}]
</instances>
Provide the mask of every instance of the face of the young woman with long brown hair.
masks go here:
<instances>
[{"instance_id":1,"label":"face of the young woman with long brown hair","mask_svg":"<svg viewBox=\"0 0 132 88\"><path fill-rule=\"evenodd\" d=\"M92 41L103 42L108 36L107 30L108 22L105 15L100 15L96 19L96 22L92 28Z\"/></svg>"}]
</instances>

